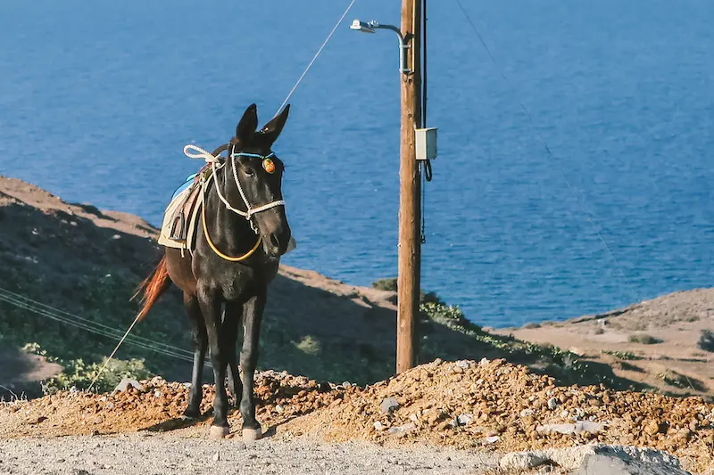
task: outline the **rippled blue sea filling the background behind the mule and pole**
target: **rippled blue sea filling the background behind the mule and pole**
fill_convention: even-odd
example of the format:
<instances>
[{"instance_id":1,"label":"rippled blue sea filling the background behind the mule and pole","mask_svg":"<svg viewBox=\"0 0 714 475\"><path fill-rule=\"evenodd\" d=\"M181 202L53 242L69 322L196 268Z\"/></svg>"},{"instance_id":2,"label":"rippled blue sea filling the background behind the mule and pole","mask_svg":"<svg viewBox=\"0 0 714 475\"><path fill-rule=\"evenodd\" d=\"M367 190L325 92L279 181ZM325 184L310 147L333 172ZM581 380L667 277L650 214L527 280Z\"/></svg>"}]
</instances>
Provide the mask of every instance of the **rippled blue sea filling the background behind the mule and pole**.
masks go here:
<instances>
[{"instance_id":1,"label":"rippled blue sea filling the background behind the mule and pole","mask_svg":"<svg viewBox=\"0 0 714 475\"><path fill-rule=\"evenodd\" d=\"M496 63L429 3L423 287L507 326L714 285L710 0L461 1ZM348 3L2 0L0 174L159 225L183 146L267 122ZM348 25L399 15L357 0L291 100L288 265L396 274L397 42Z\"/></svg>"}]
</instances>

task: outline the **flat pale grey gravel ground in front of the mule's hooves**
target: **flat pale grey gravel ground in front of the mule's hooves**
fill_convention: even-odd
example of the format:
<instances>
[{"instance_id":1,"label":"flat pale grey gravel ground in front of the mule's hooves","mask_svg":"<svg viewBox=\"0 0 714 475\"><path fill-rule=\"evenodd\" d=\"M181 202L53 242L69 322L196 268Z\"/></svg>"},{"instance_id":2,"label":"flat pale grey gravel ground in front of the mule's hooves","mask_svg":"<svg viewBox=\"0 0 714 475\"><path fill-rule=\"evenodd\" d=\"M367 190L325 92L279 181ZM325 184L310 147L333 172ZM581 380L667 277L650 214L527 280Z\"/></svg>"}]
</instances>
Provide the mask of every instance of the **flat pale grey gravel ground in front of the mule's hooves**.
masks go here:
<instances>
[{"instance_id":1,"label":"flat pale grey gravel ground in front of the mule's hooves","mask_svg":"<svg viewBox=\"0 0 714 475\"><path fill-rule=\"evenodd\" d=\"M167 434L19 438L0 441L0 474L122 475L493 474L495 455L431 447L386 449L365 443L327 444L300 438L176 438Z\"/></svg>"}]
</instances>

